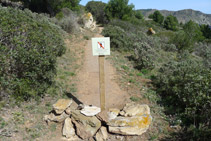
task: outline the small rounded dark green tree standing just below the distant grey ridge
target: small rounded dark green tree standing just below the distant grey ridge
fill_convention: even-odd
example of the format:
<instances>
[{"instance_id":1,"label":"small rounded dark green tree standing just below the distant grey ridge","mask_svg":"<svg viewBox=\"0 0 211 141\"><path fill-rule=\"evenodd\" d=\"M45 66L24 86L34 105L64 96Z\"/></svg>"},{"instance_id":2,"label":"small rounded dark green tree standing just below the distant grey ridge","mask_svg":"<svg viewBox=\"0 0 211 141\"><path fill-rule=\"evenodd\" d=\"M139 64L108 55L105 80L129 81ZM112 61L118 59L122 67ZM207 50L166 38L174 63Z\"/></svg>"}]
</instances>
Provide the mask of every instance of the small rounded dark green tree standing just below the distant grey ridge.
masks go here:
<instances>
[{"instance_id":1,"label":"small rounded dark green tree standing just below the distant grey ridge","mask_svg":"<svg viewBox=\"0 0 211 141\"><path fill-rule=\"evenodd\" d=\"M168 30L176 31L178 26L178 20L176 17L169 15L164 21L164 27Z\"/></svg>"}]
</instances>

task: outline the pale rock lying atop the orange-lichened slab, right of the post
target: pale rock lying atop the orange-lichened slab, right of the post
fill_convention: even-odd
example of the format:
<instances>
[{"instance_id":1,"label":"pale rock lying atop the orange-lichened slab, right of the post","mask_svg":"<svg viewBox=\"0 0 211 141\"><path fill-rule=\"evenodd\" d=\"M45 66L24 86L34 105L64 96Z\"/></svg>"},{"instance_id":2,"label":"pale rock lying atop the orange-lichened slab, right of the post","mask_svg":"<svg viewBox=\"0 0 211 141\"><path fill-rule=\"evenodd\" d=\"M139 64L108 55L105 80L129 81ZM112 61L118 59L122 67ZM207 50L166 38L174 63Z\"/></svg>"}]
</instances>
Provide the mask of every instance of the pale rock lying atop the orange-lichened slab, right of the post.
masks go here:
<instances>
[{"instance_id":1,"label":"pale rock lying atop the orange-lichened slab, right of the post","mask_svg":"<svg viewBox=\"0 0 211 141\"><path fill-rule=\"evenodd\" d=\"M150 115L150 108L146 104L128 103L122 111L125 113L125 117Z\"/></svg>"}]
</instances>

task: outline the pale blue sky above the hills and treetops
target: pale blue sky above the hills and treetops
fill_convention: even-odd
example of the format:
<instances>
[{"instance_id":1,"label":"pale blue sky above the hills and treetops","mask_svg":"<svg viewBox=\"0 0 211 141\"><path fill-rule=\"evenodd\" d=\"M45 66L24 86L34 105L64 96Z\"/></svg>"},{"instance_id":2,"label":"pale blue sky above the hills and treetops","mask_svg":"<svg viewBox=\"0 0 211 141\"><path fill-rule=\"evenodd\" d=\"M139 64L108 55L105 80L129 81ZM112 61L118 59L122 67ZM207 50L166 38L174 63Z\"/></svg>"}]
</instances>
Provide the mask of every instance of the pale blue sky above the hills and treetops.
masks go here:
<instances>
[{"instance_id":1,"label":"pale blue sky above the hills and treetops","mask_svg":"<svg viewBox=\"0 0 211 141\"><path fill-rule=\"evenodd\" d=\"M80 4L86 5L91 0L81 0ZM94 0L107 3L109 0ZM135 9L158 9L178 11L183 9L198 10L206 14L211 14L211 0L129 0Z\"/></svg>"}]
</instances>

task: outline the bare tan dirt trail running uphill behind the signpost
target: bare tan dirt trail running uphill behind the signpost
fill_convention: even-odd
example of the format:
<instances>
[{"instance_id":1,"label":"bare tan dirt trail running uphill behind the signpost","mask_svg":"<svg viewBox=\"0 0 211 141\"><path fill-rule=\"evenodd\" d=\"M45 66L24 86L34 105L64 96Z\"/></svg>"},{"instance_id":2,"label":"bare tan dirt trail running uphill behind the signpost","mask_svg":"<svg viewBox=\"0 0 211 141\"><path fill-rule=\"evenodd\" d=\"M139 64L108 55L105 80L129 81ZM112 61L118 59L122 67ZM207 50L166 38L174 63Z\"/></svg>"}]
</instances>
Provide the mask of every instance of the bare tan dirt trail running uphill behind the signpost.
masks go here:
<instances>
[{"instance_id":1,"label":"bare tan dirt trail running uphill behind the signpost","mask_svg":"<svg viewBox=\"0 0 211 141\"><path fill-rule=\"evenodd\" d=\"M100 29L100 31L102 28ZM97 34L95 37L103 37ZM78 74L77 95L84 104L100 107L98 57L92 55L91 39L85 46L84 64ZM105 58L106 109L121 108L127 100L127 93L116 83L116 71Z\"/></svg>"}]
</instances>

